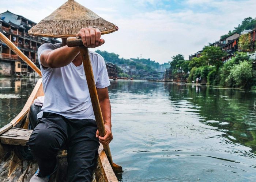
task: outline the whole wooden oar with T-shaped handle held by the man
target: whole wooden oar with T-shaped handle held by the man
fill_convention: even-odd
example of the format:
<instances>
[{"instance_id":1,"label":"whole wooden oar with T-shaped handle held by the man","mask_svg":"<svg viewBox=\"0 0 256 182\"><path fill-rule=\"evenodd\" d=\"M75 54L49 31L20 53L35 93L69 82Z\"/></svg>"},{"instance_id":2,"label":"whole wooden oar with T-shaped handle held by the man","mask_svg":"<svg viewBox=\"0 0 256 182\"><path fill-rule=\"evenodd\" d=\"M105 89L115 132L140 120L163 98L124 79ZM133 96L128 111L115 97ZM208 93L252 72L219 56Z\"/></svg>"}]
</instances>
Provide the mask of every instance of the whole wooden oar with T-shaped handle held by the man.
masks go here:
<instances>
[{"instance_id":1,"label":"whole wooden oar with T-shaped handle held by the man","mask_svg":"<svg viewBox=\"0 0 256 182\"><path fill-rule=\"evenodd\" d=\"M97 90L96 90L96 86L95 86L95 82L94 82L93 68L91 66L91 60L90 60L90 56L89 56L88 47L84 47L82 39L77 39L77 37L69 37L67 39L67 45L68 45L68 47L79 46L79 48L80 48L80 53L82 56L83 67L84 67L84 73L86 76L86 81L87 81L87 85L88 85L89 92L90 92L91 103L93 105L93 112L95 115L95 120L97 123L98 130L99 130L99 135L101 137L104 137L106 134L105 125L104 125L104 121L103 121L103 117L102 117L102 113L101 113L101 107L99 105L99 99L98 99L98 94L97 94ZM107 145L107 146L103 145L103 148L104 148L105 153L109 159L109 163L112 166L113 171L115 173L123 172L121 166L118 166L115 163L113 163L109 145Z\"/></svg>"}]
</instances>

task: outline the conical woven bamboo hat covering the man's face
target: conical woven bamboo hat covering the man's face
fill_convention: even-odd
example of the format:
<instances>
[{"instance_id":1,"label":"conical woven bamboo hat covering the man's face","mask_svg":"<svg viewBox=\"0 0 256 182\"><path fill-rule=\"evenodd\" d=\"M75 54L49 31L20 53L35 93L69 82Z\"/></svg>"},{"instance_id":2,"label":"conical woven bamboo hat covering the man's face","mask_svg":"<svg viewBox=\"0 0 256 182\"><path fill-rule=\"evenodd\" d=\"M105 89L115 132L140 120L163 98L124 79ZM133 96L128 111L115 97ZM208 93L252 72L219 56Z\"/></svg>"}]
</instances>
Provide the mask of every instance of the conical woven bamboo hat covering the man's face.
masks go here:
<instances>
[{"instance_id":1,"label":"conical woven bamboo hat covering the man's face","mask_svg":"<svg viewBox=\"0 0 256 182\"><path fill-rule=\"evenodd\" d=\"M99 17L90 9L74 0L68 0L32 27L28 33L43 37L72 37L76 36L81 28L89 27L98 28L101 34L118 30L116 25Z\"/></svg>"}]
</instances>

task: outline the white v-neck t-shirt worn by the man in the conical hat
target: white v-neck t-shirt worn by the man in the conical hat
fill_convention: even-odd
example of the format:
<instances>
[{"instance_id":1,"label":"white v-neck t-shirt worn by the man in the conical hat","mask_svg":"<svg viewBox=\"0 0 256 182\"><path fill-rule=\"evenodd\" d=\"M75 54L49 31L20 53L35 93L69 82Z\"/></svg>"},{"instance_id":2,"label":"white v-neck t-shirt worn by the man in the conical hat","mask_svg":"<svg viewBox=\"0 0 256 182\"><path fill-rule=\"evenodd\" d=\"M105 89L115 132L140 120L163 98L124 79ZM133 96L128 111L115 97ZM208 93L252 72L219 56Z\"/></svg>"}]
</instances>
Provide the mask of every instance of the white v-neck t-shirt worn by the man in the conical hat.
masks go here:
<instances>
[{"instance_id":1,"label":"white v-neck t-shirt worn by the man in the conical hat","mask_svg":"<svg viewBox=\"0 0 256 182\"><path fill-rule=\"evenodd\" d=\"M60 47L61 43L47 43L38 48L45 101L37 118L41 118L45 111L60 114L69 119L95 120L83 64L76 67L71 62L61 68L43 68L40 63L42 52ZM104 59L95 52L89 51L89 55L96 87L108 87L110 82Z\"/></svg>"}]
</instances>

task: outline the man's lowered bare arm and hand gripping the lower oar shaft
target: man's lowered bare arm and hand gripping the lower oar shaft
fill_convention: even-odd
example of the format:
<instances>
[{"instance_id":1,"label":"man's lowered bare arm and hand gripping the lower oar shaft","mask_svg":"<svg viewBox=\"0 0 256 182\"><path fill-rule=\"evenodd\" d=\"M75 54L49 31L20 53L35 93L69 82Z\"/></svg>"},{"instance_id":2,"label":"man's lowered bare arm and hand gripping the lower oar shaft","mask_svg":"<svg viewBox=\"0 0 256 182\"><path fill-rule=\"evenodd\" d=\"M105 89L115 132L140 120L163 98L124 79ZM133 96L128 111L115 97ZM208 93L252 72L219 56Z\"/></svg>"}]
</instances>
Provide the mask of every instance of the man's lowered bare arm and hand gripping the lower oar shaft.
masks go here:
<instances>
[{"instance_id":1,"label":"man's lowered bare arm and hand gripping the lower oar shaft","mask_svg":"<svg viewBox=\"0 0 256 182\"><path fill-rule=\"evenodd\" d=\"M96 137L99 137L99 141L104 145L109 145L113 139L111 131L111 106L108 94L108 87L97 88L97 94L99 98L99 105L101 106L101 112L105 124L106 135L104 137L99 136L99 131L96 132Z\"/></svg>"}]
</instances>

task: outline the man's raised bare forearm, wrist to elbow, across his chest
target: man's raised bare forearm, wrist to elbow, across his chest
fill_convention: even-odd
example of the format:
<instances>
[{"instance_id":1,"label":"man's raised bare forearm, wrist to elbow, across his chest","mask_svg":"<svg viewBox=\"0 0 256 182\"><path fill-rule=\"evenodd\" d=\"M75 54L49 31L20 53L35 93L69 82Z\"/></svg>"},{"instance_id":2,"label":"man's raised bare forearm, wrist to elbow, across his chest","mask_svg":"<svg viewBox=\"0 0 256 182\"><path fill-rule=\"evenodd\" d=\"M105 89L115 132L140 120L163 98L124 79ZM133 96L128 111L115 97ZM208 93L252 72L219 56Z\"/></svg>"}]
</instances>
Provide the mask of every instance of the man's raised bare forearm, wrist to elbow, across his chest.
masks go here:
<instances>
[{"instance_id":1,"label":"man's raised bare forearm, wrist to elbow, across his chest","mask_svg":"<svg viewBox=\"0 0 256 182\"><path fill-rule=\"evenodd\" d=\"M63 46L46 55L46 64L51 68L67 66L79 54L79 47Z\"/></svg>"}]
</instances>

